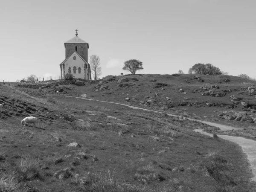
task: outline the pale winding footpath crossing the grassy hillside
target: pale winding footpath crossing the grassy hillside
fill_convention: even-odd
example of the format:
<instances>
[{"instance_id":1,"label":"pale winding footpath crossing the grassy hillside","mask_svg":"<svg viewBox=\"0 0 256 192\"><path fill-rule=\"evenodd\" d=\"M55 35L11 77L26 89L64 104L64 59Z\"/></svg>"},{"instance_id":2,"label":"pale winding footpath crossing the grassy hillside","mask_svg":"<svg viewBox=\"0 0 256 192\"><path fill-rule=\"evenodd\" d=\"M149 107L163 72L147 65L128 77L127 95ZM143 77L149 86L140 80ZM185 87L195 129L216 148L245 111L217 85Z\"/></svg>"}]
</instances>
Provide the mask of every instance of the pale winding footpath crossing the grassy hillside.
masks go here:
<instances>
[{"instance_id":1,"label":"pale winding footpath crossing the grassy hillside","mask_svg":"<svg viewBox=\"0 0 256 192\"><path fill-rule=\"evenodd\" d=\"M73 96L67 96L67 97L73 97ZM96 100L96 99L86 99L86 98L81 98L81 97L74 97L74 98L85 99L85 100L89 100L89 101L113 103L113 104L117 104L117 105L124 105L124 106L127 106L127 107L132 108L132 109L141 109L143 111L153 111L155 113L162 113L160 111L154 111L154 110L150 110L150 109L134 107L134 106L125 105L125 104L121 104L121 103L100 101L100 100ZM166 113L166 115L177 117L177 115L172 115L172 114L168 114L168 113ZM241 129L241 128L235 128L235 127L231 127L231 126L227 126L227 125L221 125L221 124L214 123L214 122L207 122L207 121L202 121L202 120L198 120L198 119L191 119L191 118L188 118L188 119L192 120L192 121L198 121L198 122L201 122L201 123L204 123L204 124L207 124L207 125L218 127L218 128L221 129L221 131L232 130L232 129L236 129L236 130ZM213 137L213 134L209 134L207 132L204 132L202 129L195 129L193 131L201 133L201 134L208 135L210 137ZM250 165L251 165L251 168L252 168L252 172L253 172L253 175L254 175L252 180L256 181L256 147L255 147L256 146L256 141L245 139L243 137L233 137L233 136L229 136L229 135L218 135L218 137L220 137L224 140L232 141L232 142L237 143L241 146L244 153L247 154L247 158L248 158L248 160L250 162Z\"/></svg>"}]
</instances>

